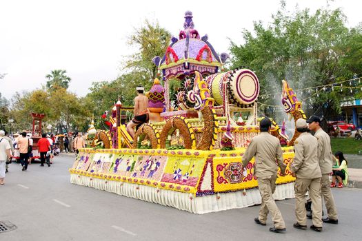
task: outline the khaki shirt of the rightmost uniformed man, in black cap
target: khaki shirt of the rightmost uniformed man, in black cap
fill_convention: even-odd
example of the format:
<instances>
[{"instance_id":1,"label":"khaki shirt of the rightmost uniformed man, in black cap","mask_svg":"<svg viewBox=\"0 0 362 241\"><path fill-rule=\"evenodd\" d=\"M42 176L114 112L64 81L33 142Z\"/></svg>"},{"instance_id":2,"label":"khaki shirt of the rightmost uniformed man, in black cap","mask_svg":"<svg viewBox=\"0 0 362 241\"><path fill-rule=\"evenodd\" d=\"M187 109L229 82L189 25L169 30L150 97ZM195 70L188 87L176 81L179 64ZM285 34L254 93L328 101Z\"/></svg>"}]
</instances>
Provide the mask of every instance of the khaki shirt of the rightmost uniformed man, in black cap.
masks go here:
<instances>
[{"instance_id":1,"label":"khaki shirt of the rightmost uniformed man, in black cap","mask_svg":"<svg viewBox=\"0 0 362 241\"><path fill-rule=\"evenodd\" d=\"M316 131L314 136L318 140L318 159L321 172L322 174L330 174L332 172L332 166L335 163L330 147L330 136L328 136L322 128Z\"/></svg>"}]
</instances>

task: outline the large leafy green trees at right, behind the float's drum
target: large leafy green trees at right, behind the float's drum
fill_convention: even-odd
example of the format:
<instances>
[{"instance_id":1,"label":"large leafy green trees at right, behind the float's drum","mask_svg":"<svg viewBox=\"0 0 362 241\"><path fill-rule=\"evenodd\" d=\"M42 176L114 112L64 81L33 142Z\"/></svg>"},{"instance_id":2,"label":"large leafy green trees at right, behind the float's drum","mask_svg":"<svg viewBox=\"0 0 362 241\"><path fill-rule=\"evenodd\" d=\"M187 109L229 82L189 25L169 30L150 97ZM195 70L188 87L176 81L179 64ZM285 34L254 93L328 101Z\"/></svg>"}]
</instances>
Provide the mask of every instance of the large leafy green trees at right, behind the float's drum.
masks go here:
<instances>
[{"instance_id":1,"label":"large leafy green trees at right, behind the float's drum","mask_svg":"<svg viewBox=\"0 0 362 241\"><path fill-rule=\"evenodd\" d=\"M282 79L297 90L362 75L361 26L349 29L340 9L314 13L305 9L290 14L284 7L282 2L268 26L259 21L254 23L253 32L243 31L244 44L231 42L231 68L246 65L254 70L261 81L261 96L280 96ZM350 91L330 89L314 96L297 93L307 114L317 112L328 119L340 112L340 103L351 97ZM279 98L259 101L280 105ZM261 107L261 112L270 115L268 108Z\"/></svg>"}]
</instances>

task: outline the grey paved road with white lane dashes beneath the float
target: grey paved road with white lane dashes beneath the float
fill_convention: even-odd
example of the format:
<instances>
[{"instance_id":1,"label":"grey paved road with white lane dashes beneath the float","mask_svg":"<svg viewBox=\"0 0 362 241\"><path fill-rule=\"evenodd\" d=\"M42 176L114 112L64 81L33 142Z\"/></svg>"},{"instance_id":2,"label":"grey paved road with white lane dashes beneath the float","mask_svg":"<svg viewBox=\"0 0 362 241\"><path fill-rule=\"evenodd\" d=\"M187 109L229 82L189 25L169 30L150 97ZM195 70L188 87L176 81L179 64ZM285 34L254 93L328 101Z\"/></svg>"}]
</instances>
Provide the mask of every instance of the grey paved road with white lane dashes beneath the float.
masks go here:
<instances>
[{"instance_id":1,"label":"grey paved road with white lane dashes beneath the float","mask_svg":"<svg viewBox=\"0 0 362 241\"><path fill-rule=\"evenodd\" d=\"M322 233L292 227L294 200L277 205L287 233L254 224L259 207L197 215L150 202L72 185L72 156L54 159L52 167L32 164L28 171L12 164L0 187L0 220L18 229L0 240L361 240L362 189L334 189L340 224L325 224ZM310 225L311 222L308 221Z\"/></svg>"}]
</instances>

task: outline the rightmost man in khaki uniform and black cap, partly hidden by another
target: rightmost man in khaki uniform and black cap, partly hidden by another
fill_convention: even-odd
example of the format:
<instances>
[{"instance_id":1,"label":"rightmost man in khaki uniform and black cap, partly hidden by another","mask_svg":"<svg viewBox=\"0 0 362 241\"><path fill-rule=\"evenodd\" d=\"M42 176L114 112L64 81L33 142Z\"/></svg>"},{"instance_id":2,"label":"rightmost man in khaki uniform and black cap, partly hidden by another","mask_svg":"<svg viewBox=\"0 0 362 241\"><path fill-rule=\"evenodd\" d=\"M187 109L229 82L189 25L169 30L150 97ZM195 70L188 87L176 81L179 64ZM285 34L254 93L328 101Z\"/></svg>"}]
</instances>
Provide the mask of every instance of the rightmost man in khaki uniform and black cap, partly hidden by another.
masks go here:
<instances>
[{"instance_id":1,"label":"rightmost man in khaki uniform and black cap, partly hidden by another","mask_svg":"<svg viewBox=\"0 0 362 241\"><path fill-rule=\"evenodd\" d=\"M328 218L323 218L323 222L338 224L338 216L336 205L330 190L330 173L332 173L332 166L334 158L332 149L330 147L330 136L321 128L321 119L318 116L310 116L307 123L309 129L315 132L314 136L318 140L318 158L319 167L321 167L321 193L324 198L325 207L327 208Z\"/></svg>"}]
</instances>

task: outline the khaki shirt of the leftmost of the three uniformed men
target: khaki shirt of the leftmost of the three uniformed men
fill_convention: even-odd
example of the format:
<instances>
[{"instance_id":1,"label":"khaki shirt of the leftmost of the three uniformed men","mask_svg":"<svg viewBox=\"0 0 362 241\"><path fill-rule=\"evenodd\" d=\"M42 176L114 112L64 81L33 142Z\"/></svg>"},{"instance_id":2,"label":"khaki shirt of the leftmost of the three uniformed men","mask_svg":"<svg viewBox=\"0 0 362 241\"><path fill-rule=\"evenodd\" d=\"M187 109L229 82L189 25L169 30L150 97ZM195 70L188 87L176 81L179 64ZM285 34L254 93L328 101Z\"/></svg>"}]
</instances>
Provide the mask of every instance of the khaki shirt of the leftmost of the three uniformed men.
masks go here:
<instances>
[{"instance_id":1,"label":"khaki shirt of the leftmost of the three uniformed men","mask_svg":"<svg viewBox=\"0 0 362 241\"><path fill-rule=\"evenodd\" d=\"M285 173L287 167L283 163L283 151L279 139L268 132L261 132L259 136L252 138L248 149L243 155L243 166L255 156L254 175L257 178L266 178L276 175L278 165L281 172Z\"/></svg>"}]
</instances>

